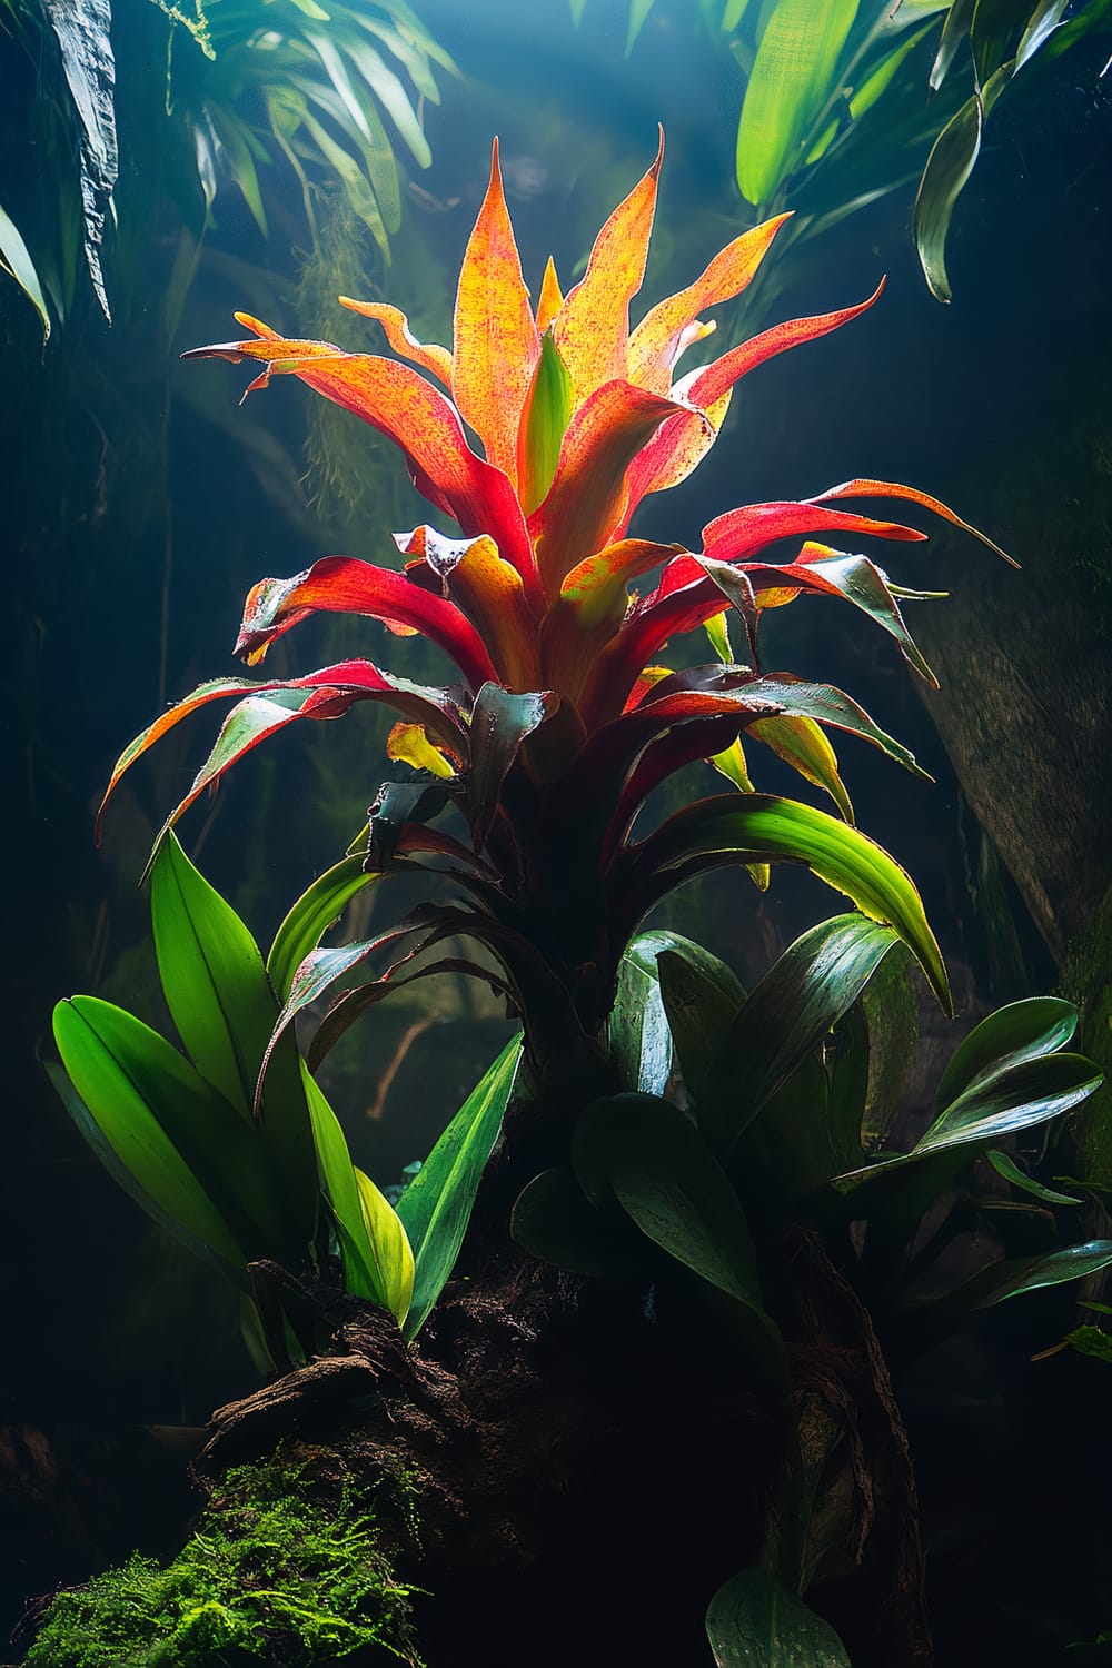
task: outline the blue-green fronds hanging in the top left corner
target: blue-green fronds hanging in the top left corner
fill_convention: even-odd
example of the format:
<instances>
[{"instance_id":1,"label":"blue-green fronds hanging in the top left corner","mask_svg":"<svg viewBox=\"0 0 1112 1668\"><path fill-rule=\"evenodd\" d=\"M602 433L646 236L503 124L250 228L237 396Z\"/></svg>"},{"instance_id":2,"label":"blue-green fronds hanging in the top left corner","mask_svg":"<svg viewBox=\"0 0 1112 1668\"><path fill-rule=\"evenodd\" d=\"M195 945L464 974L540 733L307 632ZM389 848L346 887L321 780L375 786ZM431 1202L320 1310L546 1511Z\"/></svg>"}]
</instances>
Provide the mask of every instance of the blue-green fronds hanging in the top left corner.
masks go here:
<instances>
[{"instance_id":1,"label":"blue-green fronds hanging in the top left corner","mask_svg":"<svg viewBox=\"0 0 1112 1668\"><path fill-rule=\"evenodd\" d=\"M27 158L5 158L12 178L0 185L0 265L35 305L43 339L52 317L63 320L73 309L82 250L100 309L112 317L115 284L103 264L105 224L115 219L117 117L125 130L130 118L135 147L152 73L143 62L138 90L130 77L117 85L127 42L113 43L112 28L115 22L117 32L123 25L145 40L142 13L152 5L167 17L165 38L155 47L165 62L165 88L158 132L143 135L137 155L142 170L152 172L152 157L163 158L152 202L168 193L180 210L167 295L172 324L217 198L230 183L265 237L265 168L285 160L315 239L317 185L335 182L388 259L402 214L390 128L417 167L430 162L417 108L438 102L435 72L455 67L405 0L330 0L327 7L317 0L265 0L262 7L257 0L117 0L115 18L110 0L0 0L0 28L35 70L28 123L35 123L40 170L33 193L25 193L20 170ZM118 254L132 237L135 229L122 225L108 250L115 244ZM120 275L122 287L127 277Z\"/></svg>"}]
</instances>

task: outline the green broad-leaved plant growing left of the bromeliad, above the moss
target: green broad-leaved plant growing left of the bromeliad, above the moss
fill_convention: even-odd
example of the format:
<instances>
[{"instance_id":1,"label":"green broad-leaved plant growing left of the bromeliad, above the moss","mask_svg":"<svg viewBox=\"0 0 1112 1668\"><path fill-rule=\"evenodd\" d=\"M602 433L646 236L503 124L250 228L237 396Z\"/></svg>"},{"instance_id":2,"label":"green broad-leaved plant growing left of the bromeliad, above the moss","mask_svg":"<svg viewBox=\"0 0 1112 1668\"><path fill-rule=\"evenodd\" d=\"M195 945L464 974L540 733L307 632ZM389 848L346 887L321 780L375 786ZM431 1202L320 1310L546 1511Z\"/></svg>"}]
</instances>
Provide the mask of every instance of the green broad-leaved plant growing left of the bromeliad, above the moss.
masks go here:
<instances>
[{"instance_id":1,"label":"green broad-leaved plant growing left of the bromeliad, above the moss","mask_svg":"<svg viewBox=\"0 0 1112 1668\"><path fill-rule=\"evenodd\" d=\"M335 907L328 897L327 909ZM248 929L173 836L155 854L150 914L162 989L188 1051L93 996L58 1002L52 1071L70 1114L155 1221L238 1286L243 1329L270 1366L322 1348L300 1276L375 1303L412 1338L452 1273L482 1168L502 1124L518 1044L477 1086L397 1209L355 1164L293 1037L268 1049L315 894L263 959ZM255 1084L270 1069L255 1118ZM290 1281L285 1276L293 1276Z\"/></svg>"}]
</instances>

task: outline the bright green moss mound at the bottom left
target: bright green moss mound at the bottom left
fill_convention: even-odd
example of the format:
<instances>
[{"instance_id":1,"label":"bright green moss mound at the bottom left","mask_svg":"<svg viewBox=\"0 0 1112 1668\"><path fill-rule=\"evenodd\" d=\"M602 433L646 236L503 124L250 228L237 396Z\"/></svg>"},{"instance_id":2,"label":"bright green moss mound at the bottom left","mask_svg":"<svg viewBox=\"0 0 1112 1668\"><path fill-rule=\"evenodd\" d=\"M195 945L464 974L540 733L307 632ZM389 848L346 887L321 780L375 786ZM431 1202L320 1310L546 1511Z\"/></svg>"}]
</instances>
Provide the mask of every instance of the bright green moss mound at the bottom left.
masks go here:
<instances>
[{"instance_id":1,"label":"bright green moss mound at the bottom left","mask_svg":"<svg viewBox=\"0 0 1112 1668\"><path fill-rule=\"evenodd\" d=\"M237 1466L167 1568L133 1553L58 1593L27 1665L310 1668L355 1653L360 1663L418 1665L415 1590L395 1580L380 1538L373 1503L350 1481L322 1503L305 1466Z\"/></svg>"}]
</instances>

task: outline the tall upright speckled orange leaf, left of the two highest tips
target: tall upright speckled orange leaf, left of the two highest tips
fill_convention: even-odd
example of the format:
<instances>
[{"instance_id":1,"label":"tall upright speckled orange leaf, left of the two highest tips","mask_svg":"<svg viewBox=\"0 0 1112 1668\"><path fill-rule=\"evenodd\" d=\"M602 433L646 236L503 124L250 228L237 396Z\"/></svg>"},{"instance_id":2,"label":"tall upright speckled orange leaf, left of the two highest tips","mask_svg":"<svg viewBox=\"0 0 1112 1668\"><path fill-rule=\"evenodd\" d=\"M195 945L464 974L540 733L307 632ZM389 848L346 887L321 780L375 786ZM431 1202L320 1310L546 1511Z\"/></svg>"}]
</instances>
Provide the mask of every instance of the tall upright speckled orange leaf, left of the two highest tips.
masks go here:
<instances>
[{"instance_id":1,"label":"tall upright speckled orange leaf, left of the two highest tips","mask_svg":"<svg viewBox=\"0 0 1112 1668\"><path fill-rule=\"evenodd\" d=\"M487 449L487 462L517 484L517 430L540 354L522 260L502 192L498 140L490 185L468 239L455 294L452 392Z\"/></svg>"}]
</instances>

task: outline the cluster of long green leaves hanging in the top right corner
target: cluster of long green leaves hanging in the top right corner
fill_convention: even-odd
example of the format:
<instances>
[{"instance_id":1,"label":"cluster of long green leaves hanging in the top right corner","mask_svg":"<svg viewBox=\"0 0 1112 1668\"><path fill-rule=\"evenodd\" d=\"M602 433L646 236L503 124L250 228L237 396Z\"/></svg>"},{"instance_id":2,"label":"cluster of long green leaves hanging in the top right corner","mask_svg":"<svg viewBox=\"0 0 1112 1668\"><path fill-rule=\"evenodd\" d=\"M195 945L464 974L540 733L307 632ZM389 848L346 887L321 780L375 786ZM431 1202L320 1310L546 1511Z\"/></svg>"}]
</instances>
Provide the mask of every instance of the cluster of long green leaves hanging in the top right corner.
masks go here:
<instances>
[{"instance_id":1,"label":"cluster of long green leaves hanging in the top right corner","mask_svg":"<svg viewBox=\"0 0 1112 1668\"><path fill-rule=\"evenodd\" d=\"M632 0L627 55L652 5ZM584 10L572 0L575 22ZM1112 28L1109 0L699 0L699 13L744 82L737 187L759 214L797 210L780 259L919 182L915 249L944 302L950 217L997 100L1037 57Z\"/></svg>"}]
</instances>

